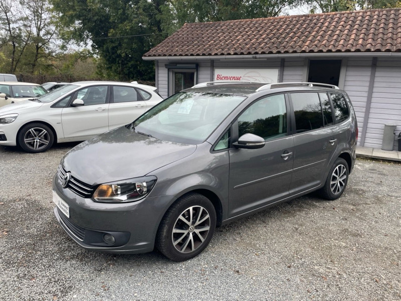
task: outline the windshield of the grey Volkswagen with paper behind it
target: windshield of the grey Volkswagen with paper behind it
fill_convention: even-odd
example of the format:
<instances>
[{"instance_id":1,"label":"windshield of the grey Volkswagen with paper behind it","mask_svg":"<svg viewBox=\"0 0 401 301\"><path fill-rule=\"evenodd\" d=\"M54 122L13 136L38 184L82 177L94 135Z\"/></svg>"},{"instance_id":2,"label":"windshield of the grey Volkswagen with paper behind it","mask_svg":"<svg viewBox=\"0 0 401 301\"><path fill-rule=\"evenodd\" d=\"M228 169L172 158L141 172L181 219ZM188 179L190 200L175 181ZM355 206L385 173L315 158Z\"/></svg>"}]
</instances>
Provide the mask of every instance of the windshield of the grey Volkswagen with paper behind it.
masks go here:
<instances>
[{"instance_id":1,"label":"windshield of the grey Volkswagen with paper behind it","mask_svg":"<svg viewBox=\"0 0 401 301\"><path fill-rule=\"evenodd\" d=\"M198 144L245 99L244 96L180 92L153 107L134 123L136 132L155 138Z\"/></svg>"}]
</instances>

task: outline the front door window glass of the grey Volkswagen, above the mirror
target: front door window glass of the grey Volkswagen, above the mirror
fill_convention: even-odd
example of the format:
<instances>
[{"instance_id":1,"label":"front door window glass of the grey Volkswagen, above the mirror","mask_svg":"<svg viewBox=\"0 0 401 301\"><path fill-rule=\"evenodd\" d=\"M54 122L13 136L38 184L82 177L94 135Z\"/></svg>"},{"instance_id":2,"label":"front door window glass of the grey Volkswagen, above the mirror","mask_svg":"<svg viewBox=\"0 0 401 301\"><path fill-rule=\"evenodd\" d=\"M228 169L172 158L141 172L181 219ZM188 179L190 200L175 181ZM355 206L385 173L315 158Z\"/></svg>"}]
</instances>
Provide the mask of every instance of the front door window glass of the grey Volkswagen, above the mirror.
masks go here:
<instances>
[{"instance_id":1,"label":"front door window glass of the grey Volkswagen, above the mirror","mask_svg":"<svg viewBox=\"0 0 401 301\"><path fill-rule=\"evenodd\" d=\"M239 137L251 133L265 140L287 135L287 110L284 94L262 98L238 117Z\"/></svg>"}]
</instances>

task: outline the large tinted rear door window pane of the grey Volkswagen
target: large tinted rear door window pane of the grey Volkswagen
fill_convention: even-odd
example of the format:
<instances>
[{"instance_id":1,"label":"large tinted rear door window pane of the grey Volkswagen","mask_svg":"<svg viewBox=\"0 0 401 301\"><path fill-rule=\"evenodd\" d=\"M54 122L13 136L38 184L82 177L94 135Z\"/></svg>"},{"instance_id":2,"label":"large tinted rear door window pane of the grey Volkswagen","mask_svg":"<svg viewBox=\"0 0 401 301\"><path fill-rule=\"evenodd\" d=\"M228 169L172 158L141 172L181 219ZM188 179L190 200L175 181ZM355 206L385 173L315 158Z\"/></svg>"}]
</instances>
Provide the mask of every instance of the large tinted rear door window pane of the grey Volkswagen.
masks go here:
<instances>
[{"instance_id":1,"label":"large tinted rear door window pane of the grey Volkswagen","mask_svg":"<svg viewBox=\"0 0 401 301\"><path fill-rule=\"evenodd\" d=\"M296 132L323 127L322 107L317 93L291 93Z\"/></svg>"}]
</instances>

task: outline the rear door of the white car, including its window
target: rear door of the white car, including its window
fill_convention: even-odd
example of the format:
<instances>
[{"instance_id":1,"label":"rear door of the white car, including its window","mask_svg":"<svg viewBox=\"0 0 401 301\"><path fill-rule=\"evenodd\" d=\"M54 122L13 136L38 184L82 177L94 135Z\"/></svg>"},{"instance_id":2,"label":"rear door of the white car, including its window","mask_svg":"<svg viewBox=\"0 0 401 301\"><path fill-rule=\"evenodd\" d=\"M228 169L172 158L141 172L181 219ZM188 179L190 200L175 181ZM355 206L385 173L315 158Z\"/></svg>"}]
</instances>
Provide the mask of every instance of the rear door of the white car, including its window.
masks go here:
<instances>
[{"instance_id":1,"label":"rear door of the white car, including its window","mask_svg":"<svg viewBox=\"0 0 401 301\"><path fill-rule=\"evenodd\" d=\"M128 124L146 111L146 103L134 87L112 86L109 129Z\"/></svg>"}]
</instances>

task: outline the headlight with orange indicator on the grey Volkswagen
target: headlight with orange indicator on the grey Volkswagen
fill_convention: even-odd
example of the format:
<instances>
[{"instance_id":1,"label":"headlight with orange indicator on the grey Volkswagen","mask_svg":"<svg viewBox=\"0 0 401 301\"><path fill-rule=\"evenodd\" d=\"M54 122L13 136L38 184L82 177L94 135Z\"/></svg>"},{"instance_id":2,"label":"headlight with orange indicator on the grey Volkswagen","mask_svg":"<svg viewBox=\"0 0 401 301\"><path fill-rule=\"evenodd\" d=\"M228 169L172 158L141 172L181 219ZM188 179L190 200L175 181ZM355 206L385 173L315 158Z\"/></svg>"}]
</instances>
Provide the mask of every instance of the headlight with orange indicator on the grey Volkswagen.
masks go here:
<instances>
[{"instance_id":1,"label":"headlight with orange indicator on the grey Volkswagen","mask_svg":"<svg viewBox=\"0 0 401 301\"><path fill-rule=\"evenodd\" d=\"M100 185L93 200L104 203L127 203L139 201L153 188L157 178L147 176Z\"/></svg>"}]
</instances>

